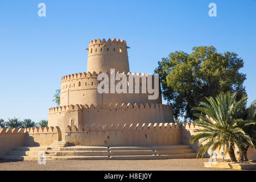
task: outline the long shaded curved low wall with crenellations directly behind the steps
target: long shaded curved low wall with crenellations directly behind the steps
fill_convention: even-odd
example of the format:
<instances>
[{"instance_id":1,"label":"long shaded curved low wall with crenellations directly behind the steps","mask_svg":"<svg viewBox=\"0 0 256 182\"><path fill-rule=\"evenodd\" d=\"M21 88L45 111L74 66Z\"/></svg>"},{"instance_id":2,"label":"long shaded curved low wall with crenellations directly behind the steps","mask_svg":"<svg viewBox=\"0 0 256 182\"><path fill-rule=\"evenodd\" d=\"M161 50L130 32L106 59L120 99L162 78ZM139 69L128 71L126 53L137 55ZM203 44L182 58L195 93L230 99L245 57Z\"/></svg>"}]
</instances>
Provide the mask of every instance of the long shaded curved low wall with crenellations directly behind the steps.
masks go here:
<instances>
[{"instance_id":1,"label":"long shaded curved low wall with crenellations directly behind the steps","mask_svg":"<svg viewBox=\"0 0 256 182\"><path fill-rule=\"evenodd\" d=\"M65 140L81 146L161 146L180 144L177 123L67 126Z\"/></svg>"}]
</instances>

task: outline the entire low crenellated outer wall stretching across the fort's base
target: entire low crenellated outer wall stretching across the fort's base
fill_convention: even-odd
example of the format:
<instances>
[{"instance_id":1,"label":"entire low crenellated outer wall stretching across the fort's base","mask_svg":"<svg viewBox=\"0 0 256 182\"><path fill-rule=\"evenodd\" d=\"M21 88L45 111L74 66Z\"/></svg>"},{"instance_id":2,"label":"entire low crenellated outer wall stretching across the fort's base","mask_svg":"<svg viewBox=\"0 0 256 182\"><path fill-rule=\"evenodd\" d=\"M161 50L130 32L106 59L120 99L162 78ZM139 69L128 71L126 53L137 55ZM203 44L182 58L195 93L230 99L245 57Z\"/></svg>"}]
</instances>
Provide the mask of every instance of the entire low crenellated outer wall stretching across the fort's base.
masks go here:
<instances>
[{"instance_id":1,"label":"entire low crenellated outer wall stretching across the fort's base","mask_svg":"<svg viewBox=\"0 0 256 182\"><path fill-rule=\"evenodd\" d=\"M59 127L35 127L28 129L0 129L0 156L18 146L51 146L61 138L76 146L164 146L172 144L190 144L197 151L197 144L191 144L189 138L199 128L195 123L131 123L98 124ZM235 152L238 151L237 147ZM209 157L210 150L208 151ZM214 151L222 159L222 151ZM237 155L237 154L236 154ZM253 148L247 151L249 160L256 160ZM229 156L226 155L225 159Z\"/></svg>"}]
</instances>

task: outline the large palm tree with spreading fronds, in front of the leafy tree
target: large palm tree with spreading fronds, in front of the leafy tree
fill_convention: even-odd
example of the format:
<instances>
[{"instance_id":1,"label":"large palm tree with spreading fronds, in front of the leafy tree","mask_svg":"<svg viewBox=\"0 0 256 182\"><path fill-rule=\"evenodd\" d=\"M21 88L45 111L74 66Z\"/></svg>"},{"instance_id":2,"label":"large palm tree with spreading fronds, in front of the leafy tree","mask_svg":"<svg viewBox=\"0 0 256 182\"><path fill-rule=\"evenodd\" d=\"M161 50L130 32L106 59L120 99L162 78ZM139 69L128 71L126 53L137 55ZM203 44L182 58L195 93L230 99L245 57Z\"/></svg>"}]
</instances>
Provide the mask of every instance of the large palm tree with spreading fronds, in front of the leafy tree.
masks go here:
<instances>
[{"instance_id":1,"label":"large palm tree with spreading fronds, in front of the leafy tree","mask_svg":"<svg viewBox=\"0 0 256 182\"><path fill-rule=\"evenodd\" d=\"M236 101L237 93L220 93L216 98L206 98L208 102L200 102L200 107L195 110L201 111L195 116L199 119L196 124L201 129L196 129L190 140L191 143L199 140L200 146L197 158L203 158L209 149L220 150L223 148L225 154L229 154L232 161L236 161L234 146L241 146L242 141L246 140L250 144L252 141L240 127L237 126L236 113L241 110L241 105L245 98Z\"/></svg>"}]
</instances>

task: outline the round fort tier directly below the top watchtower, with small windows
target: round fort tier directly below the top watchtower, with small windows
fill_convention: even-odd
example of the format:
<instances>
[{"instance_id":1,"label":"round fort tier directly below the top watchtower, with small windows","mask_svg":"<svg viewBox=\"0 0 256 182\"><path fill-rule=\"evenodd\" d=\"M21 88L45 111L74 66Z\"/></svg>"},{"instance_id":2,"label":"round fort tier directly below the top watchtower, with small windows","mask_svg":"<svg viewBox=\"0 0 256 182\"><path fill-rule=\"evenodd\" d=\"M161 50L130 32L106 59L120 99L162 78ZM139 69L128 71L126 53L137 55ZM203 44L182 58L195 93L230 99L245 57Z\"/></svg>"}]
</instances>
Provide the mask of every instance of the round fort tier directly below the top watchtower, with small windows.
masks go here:
<instances>
[{"instance_id":1,"label":"round fort tier directly below the top watchtower, with small windows","mask_svg":"<svg viewBox=\"0 0 256 182\"><path fill-rule=\"evenodd\" d=\"M98 84L100 81L97 80L97 76L99 73L76 73L68 76L64 76L61 78L61 92L60 92L60 106L64 105L103 105L103 104L110 104L111 102L119 102L119 103L162 103L162 94L159 86L159 96L156 100L148 100L148 96L152 95L150 93L142 93L142 78L145 77L146 82L148 80L147 74L144 73L122 73L127 77L127 89L126 93L98 93ZM117 75L119 72L116 72ZM109 76L109 92L110 92L110 73L106 72ZM139 77L139 85L135 85L135 78L133 78L133 93L129 93L129 86L132 86L129 83L128 75L136 75ZM115 85L118 84L119 81L115 81ZM135 90L138 86L137 92ZM154 88L154 76L152 76L152 88Z\"/></svg>"}]
</instances>

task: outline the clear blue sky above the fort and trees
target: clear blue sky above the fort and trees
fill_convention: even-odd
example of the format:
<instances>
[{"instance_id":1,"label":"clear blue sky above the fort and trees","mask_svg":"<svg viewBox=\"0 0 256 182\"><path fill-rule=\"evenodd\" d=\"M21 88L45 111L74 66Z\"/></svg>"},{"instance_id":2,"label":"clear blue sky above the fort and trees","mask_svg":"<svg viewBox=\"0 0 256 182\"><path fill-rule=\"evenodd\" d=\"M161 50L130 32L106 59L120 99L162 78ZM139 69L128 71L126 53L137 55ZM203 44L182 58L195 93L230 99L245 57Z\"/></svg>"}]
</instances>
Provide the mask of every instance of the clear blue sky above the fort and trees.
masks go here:
<instances>
[{"instance_id":1,"label":"clear blue sky above the fort and trees","mask_svg":"<svg viewBox=\"0 0 256 182\"><path fill-rule=\"evenodd\" d=\"M46 3L46 17L38 4ZM217 17L208 15L209 3ZM256 99L256 1L0 1L0 118L48 118L62 76L86 72L89 41L125 39L131 72L153 73L170 52L233 51Z\"/></svg>"}]
</instances>

